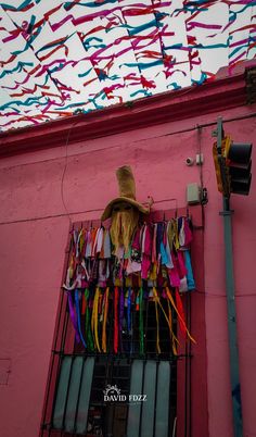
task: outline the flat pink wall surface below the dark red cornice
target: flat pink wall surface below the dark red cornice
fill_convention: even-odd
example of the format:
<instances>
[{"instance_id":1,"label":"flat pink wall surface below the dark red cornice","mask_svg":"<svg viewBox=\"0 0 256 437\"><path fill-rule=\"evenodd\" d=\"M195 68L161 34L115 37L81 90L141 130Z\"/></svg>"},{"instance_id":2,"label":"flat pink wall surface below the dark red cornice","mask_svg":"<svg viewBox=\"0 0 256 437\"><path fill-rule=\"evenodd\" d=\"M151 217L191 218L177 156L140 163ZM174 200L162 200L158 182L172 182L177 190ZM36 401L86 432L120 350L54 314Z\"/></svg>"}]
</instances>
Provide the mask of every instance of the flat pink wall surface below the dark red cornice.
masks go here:
<instances>
[{"instance_id":1,"label":"flat pink wall surface below the dark red cornice","mask_svg":"<svg viewBox=\"0 0 256 437\"><path fill-rule=\"evenodd\" d=\"M100 211L95 210L102 210L117 192L114 172L125 163L133 168L139 200L149 195L155 201L176 198L183 208L187 184L200 183L200 167L188 167L185 158L194 157L201 145L203 180L209 197L201 260L205 270L208 428L209 437L232 436L223 238L218 214L221 196L212 158L213 127L203 128L201 139L197 130L169 134L215 122L219 115L231 118L254 111L255 107L216 110L200 117L74 142L68 145L67 159L64 146L1 159L0 359L11 359L9 383L0 385L1 435L38 434L69 218L98 218ZM225 128L236 141L256 143L255 118L226 123ZM244 437L256 435L255 180L249 197L232 199ZM174 202L156 203L155 208L170 209ZM193 387L195 398L200 390L199 380ZM206 435L197 429L192 437Z\"/></svg>"}]
</instances>

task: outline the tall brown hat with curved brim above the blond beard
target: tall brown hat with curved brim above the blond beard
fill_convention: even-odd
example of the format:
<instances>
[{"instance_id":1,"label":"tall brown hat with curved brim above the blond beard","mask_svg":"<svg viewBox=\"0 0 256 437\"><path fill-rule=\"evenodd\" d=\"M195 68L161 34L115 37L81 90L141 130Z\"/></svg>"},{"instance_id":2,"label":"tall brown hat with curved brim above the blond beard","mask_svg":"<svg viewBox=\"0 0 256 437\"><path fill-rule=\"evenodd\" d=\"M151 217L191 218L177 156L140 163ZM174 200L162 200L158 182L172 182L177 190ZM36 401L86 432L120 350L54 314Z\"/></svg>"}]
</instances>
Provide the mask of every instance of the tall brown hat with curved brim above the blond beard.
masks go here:
<instances>
[{"instance_id":1,"label":"tall brown hat with curved brim above the blond beard","mask_svg":"<svg viewBox=\"0 0 256 437\"><path fill-rule=\"evenodd\" d=\"M146 209L145 207L143 207L143 204L137 202L136 200L136 182L131 167L129 165L124 165L123 167L117 168L116 177L119 187L119 197L113 199L106 205L105 211L101 216L102 222L111 217L113 207L118 202L127 202L137 208L143 214L149 214L150 209Z\"/></svg>"}]
</instances>

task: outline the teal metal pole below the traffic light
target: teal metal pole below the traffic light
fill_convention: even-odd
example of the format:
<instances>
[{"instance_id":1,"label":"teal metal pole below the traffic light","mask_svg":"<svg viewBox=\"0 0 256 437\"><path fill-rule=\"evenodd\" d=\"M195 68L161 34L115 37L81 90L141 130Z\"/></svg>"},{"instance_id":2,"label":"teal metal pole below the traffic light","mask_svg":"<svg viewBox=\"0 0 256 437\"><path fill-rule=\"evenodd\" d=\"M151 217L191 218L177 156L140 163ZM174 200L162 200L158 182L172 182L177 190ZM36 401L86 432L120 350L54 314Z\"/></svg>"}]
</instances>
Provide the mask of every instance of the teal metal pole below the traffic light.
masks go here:
<instances>
[{"instance_id":1,"label":"teal metal pole below the traffic light","mask_svg":"<svg viewBox=\"0 0 256 437\"><path fill-rule=\"evenodd\" d=\"M228 329L229 329L229 354L230 354L230 379L232 390L232 412L233 412L233 435L243 437L243 416L241 387L239 376L239 350L236 336L236 313L234 300L234 274L233 274L233 248L232 248L232 226L231 217L233 211L229 208L229 199L223 197L225 230L225 264L226 264L226 294L228 308Z\"/></svg>"}]
</instances>

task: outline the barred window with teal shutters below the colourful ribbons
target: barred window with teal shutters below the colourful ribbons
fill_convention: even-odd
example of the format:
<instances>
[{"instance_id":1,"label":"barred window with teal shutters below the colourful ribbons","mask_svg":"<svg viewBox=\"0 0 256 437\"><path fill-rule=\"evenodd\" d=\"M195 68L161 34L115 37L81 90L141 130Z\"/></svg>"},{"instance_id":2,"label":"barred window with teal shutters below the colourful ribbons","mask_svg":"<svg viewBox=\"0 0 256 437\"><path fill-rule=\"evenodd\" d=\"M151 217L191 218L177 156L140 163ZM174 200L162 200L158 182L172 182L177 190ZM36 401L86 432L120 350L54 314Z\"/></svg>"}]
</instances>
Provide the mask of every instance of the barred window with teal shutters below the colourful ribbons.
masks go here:
<instances>
[{"instance_id":1,"label":"barred window with teal shutters below the colourful ribbons","mask_svg":"<svg viewBox=\"0 0 256 437\"><path fill-rule=\"evenodd\" d=\"M67 265L74 249L69 241ZM64 278L66 276L65 269ZM62 290L55 340L46 395L41 437L169 437L175 436L177 417L177 364L182 361L188 373L190 353L176 351L180 338L178 316L166 297L158 300L146 283L131 291L126 287L123 323L118 325L118 350L115 350L115 287L108 290L106 350L85 348L74 334L69 302ZM130 295L131 292L131 295ZM135 296L132 296L132 292ZM95 294L95 285L88 287ZM99 307L105 302L106 287L99 287ZM142 295L140 295L142 294ZM138 301L142 307L138 309ZM80 335L88 342L84 287L77 291ZM190 300L189 294L183 301ZM119 304L120 307L120 304ZM187 305L187 311L189 311ZM89 319L92 326L92 309ZM129 314L128 314L129 312ZM171 319L170 325L166 322ZM143 328L141 329L141 324ZM99 337L103 322L99 317ZM100 344L100 348L101 348ZM142 350L143 347L143 350ZM188 378L183 377L187 392ZM187 395L185 395L187 396ZM145 399L143 399L145 398Z\"/></svg>"}]
</instances>

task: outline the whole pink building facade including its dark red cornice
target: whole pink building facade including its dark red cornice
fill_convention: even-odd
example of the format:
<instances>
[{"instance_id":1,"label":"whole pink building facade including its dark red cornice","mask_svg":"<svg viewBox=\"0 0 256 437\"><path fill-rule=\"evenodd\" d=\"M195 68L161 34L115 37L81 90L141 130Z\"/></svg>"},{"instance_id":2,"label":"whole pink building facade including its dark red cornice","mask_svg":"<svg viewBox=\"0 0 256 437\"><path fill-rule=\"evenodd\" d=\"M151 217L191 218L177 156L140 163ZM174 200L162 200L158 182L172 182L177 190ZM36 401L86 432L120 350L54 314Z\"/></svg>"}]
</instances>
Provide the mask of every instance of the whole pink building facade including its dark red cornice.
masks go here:
<instances>
[{"instance_id":1,"label":"whole pink building facade including its dark red cornice","mask_svg":"<svg viewBox=\"0 0 256 437\"><path fill-rule=\"evenodd\" d=\"M247 104L247 97L241 71L200 88L0 136L2 436L39 435L69 225L100 217L117 193L115 170L124 164L133 170L137 198L152 196L155 210L174 209L177 202L182 211L188 184L207 188L203 213L201 207L190 207L200 228L197 290L191 296L196 345L190 432L184 434L180 423L177 435L233 436L222 199L212 132L222 116L226 133L236 142L254 142L254 161L256 105ZM203 153L203 165L188 166L187 158L196 153ZM255 185L253 178L248 197L231 199L244 437L256 435Z\"/></svg>"}]
</instances>

